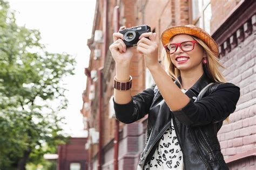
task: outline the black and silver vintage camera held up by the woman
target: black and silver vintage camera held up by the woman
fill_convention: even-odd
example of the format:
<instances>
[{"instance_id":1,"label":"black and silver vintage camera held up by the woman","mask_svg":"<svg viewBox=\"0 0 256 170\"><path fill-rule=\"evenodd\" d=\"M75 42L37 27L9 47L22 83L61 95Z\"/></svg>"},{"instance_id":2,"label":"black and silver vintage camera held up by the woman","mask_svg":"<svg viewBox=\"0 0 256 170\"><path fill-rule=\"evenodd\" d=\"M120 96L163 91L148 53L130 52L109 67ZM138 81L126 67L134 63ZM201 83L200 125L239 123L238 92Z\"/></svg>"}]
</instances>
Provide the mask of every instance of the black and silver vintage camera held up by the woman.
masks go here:
<instances>
[{"instance_id":1,"label":"black and silver vintage camera held up by the woman","mask_svg":"<svg viewBox=\"0 0 256 170\"><path fill-rule=\"evenodd\" d=\"M150 31L150 26L140 25L125 30L120 30L119 32L124 34L124 44L126 45L126 47L133 47L137 45L137 42L139 41L139 36L141 34Z\"/></svg>"}]
</instances>

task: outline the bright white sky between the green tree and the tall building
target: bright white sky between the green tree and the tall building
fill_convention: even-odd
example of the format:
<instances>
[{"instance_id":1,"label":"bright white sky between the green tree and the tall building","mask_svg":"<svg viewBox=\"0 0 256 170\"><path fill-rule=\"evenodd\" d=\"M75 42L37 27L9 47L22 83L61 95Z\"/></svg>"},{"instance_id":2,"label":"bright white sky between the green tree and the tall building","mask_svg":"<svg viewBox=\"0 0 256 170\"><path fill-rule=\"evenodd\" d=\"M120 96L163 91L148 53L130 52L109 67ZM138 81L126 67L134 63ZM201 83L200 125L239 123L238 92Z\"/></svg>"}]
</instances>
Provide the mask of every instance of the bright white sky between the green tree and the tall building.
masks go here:
<instances>
[{"instance_id":1,"label":"bright white sky between the green tree and the tall building","mask_svg":"<svg viewBox=\"0 0 256 170\"><path fill-rule=\"evenodd\" d=\"M16 23L41 32L42 44L52 53L66 52L75 56L75 75L64 79L68 108L61 112L66 117L65 132L73 137L86 136L80 114L86 87L84 68L89 65L91 38L96 0L9 0L16 12Z\"/></svg>"}]
</instances>

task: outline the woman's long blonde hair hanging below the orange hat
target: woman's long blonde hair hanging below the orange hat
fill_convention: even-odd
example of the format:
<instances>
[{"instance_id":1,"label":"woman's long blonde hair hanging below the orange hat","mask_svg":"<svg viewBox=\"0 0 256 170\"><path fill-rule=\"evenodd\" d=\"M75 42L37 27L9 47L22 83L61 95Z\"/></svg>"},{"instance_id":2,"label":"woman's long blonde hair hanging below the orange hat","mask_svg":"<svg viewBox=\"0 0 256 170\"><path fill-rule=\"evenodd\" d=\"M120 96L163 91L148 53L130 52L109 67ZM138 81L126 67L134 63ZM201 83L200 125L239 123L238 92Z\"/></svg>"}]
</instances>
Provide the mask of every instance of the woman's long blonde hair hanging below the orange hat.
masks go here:
<instances>
[{"instance_id":1,"label":"woman's long blonde hair hanging below the orange hat","mask_svg":"<svg viewBox=\"0 0 256 170\"><path fill-rule=\"evenodd\" d=\"M197 37L191 36L193 39L197 40L197 42L203 47L207 63L204 65L204 71L206 72L207 76L212 79L214 82L226 82L224 75L220 72L219 67L224 68L223 65L219 62L218 56L215 56L211 49L205 44L205 42ZM170 39L171 40L171 39ZM161 53L161 59L164 60L165 71L166 73L171 76L173 81L178 81L181 86L181 83L178 80L178 76L180 76L180 70L177 69L170 58L170 54L163 49Z\"/></svg>"}]
</instances>

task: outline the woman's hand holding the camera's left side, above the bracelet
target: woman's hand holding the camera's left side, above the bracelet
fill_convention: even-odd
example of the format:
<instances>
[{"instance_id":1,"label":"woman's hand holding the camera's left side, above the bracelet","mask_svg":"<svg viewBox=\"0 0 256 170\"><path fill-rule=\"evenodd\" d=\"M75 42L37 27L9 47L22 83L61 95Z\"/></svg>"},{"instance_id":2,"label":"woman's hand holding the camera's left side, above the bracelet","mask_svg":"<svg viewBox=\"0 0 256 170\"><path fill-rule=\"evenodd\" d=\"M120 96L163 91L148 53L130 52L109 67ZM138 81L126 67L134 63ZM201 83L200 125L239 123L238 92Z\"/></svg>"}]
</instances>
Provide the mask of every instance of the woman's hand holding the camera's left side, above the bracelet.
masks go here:
<instances>
[{"instance_id":1,"label":"woman's hand holding the camera's left side, above the bracelet","mask_svg":"<svg viewBox=\"0 0 256 170\"><path fill-rule=\"evenodd\" d=\"M120 27L120 30L125 29L125 26ZM131 48L126 48L124 44L124 34L119 32L113 33L113 44L110 45L109 49L113 56L114 61L117 65L130 66L130 62L133 56Z\"/></svg>"}]
</instances>

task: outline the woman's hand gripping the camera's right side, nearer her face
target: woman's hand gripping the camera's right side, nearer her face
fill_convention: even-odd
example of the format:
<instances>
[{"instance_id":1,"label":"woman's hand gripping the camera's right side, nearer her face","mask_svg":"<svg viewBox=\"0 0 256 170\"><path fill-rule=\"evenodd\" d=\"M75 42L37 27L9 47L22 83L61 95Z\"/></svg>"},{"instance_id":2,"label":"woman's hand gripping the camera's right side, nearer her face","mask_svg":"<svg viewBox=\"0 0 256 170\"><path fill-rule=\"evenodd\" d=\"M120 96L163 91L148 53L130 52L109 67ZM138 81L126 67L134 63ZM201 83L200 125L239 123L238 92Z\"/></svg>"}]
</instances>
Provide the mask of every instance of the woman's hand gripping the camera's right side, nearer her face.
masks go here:
<instances>
[{"instance_id":1,"label":"woman's hand gripping the camera's right side, nearer her face","mask_svg":"<svg viewBox=\"0 0 256 170\"><path fill-rule=\"evenodd\" d=\"M137 43L137 51L144 55L147 68L157 66L158 63L158 42L157 34L152 32L143 33Z\"/></svg>"}]
</instances>

